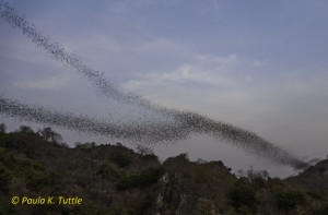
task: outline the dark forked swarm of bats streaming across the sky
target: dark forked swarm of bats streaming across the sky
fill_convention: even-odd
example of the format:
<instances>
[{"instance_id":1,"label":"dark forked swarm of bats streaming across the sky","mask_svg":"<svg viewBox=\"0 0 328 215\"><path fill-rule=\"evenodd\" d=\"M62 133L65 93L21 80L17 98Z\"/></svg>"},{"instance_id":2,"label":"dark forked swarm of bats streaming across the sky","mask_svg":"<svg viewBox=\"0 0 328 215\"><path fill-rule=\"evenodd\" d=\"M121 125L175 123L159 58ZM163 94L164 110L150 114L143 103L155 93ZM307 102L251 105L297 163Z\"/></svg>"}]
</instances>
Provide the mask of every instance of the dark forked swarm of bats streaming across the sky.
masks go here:
<instances>
[{"instance_id":1,"label":"dark forked swarm of bats streaming across the sky","mask_svg":"<svg viewBox=\"0 0 328 215\"><path fill-rule=\"evenodd\" d=\"M1 95L0 112L3 116L148 144L179 141L188 138L191 133L208 134L225 140L232 145L250 152L254 155L270 159L276 164L288 165L295 169L308 166L295 155L263 140L254 132L210 119L196 112L161 107L138 95L120 91L114 85L113 81L106 80L102 72L84 64L75 55L69 53L59 43L54 43L49 37L38 33L36 27L26 21L25 16L16 14L14 9L4 1L0 1L0 16L13 27L21 29L32 43L44 49L56 61L78 72L81 77L89 81L96 89L98 96L115 99L121 105L136 105L149 114L169 119L169 123L159 120L153 120L150 123L142 121L134 122L133 124L122 122L113 123L110 120L24 104Z\"/></svg>"}]
</instances>

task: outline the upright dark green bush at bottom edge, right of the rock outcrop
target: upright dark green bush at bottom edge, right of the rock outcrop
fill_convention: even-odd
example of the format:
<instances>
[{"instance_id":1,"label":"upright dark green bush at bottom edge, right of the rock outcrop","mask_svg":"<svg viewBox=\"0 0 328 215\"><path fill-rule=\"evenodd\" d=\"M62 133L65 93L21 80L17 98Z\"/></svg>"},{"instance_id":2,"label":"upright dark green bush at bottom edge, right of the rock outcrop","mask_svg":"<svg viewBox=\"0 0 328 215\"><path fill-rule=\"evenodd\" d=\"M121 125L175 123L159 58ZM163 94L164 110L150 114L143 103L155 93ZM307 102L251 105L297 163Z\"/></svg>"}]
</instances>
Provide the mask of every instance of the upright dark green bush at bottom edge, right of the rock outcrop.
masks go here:
<instances>
[{"instance_id":1,"label":"upright dark green bush at bottom edge, right of the rock outcrop","mask_svg":"<svg viewBox=\"0 0 328 215\"><path fill-rule=\"evenodd\" d=\"M233 206L239 212L255 211L258 203L256 192L247 181L242 178L235 183L231 193Z\"/></svg>"}]
</instances>

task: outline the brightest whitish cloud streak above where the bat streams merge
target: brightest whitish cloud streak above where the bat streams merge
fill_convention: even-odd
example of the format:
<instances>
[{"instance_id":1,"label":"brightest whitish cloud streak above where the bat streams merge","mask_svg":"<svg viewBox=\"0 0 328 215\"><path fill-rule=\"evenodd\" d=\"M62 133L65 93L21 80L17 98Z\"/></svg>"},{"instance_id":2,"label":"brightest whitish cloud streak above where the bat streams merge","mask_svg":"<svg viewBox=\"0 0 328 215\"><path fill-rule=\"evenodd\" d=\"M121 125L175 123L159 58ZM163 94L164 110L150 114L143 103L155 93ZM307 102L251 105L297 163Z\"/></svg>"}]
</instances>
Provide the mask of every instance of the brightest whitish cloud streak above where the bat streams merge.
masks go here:
<instances>
[{"instance_id":1,"label":"brightest whitish cloud streak above where the bat streams merge","mask_svg":"<svg viewBox=\"0 0 328 215\"><path fill-rule=\"evenodd\" d=\"M192 84L194 87L208 85L235 88L239 82L238 79L243 79L242 81L253 80L247 72L241 75L242 70L249 71L260 64L259 61L249 62L236 55L226 57L199 55L195 57L194 62L184 63L172 72L138 73L137 79L124 83L122 87L136 91L145 86Z\"/></svg>"}]
</instances>

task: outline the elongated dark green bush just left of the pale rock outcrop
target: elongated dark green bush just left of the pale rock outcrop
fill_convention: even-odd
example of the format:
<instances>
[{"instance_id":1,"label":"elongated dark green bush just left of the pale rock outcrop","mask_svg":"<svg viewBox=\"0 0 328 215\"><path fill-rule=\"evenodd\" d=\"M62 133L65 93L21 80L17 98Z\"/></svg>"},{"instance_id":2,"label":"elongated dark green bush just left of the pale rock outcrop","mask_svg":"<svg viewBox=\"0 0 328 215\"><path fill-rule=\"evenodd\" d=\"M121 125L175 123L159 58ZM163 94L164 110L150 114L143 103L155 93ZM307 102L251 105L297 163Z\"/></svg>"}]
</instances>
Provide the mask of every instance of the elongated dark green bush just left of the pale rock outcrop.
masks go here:
<instances>
[{"instance_id":1,"label":"elongated dark green bush just left of the pale rock outcrop","mask_svg":"<svg viewBox=\"0 0 328 215\"><path fill-rule=\"evenodd\" d=\"M120 178L116 188L118 190L128 190L136 187L143 187L155 183L163 176L163 167L149 167L139 175L127 175Z\"/></svg>"}]
</instances>

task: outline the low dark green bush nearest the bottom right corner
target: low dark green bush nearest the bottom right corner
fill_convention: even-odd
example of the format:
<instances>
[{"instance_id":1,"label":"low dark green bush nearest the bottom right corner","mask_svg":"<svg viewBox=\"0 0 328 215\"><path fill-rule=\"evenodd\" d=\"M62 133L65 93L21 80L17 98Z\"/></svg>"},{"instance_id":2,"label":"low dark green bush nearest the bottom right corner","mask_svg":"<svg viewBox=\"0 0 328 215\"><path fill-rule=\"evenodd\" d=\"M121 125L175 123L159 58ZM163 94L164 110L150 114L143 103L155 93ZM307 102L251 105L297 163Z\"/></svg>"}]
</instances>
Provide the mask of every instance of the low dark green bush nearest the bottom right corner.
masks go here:
<instances>
[{"instance_id":1,"label":"low dark green bush nearest the bottom right corner","mask_svg":"<svg viewBox=\"0 0 328 215\"><path fill-rule=\"evenodd\" d=\"M278 208L286 212L306 203L305 194L301 191L280 192L276 199Z\"/></svg>"}]
</instances>

